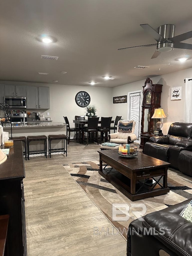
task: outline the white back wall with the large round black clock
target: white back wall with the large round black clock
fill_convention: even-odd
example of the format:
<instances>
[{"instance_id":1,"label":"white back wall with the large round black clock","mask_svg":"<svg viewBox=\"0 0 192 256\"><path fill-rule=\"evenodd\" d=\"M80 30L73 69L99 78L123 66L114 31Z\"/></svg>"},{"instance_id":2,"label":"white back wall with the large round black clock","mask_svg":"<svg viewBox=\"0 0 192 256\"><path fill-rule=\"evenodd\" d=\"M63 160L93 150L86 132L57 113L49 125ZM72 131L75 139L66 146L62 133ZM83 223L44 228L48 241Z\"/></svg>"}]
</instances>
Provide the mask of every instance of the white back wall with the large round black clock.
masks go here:
<instances>
[{"instance_id":1,"label":"white back wall with the large round black clock","mask_svg":"<svg viewBox=\"0 0 192 256\"><path fill-rule=\"evenodd\" d=\"M48 86L50 92L50 109L49 110L28 110L29 112L40 111L45 117L47 112L54 122L64 122L63 116L67 116L71 127L74 127L73 119L75 116L84 116L85 108L77 106L75 95L79 91L86 91L91 97L91 103L94 104L98 111L97 116L111 116L111 106L113 103L112 88L94 87L94 86L71 86L46 83L27 83L27 82L10 82L0 81L0 84L14 84L27 86ZM115 118L116 116L114 116Z\"/></svg>"}]
</instances>

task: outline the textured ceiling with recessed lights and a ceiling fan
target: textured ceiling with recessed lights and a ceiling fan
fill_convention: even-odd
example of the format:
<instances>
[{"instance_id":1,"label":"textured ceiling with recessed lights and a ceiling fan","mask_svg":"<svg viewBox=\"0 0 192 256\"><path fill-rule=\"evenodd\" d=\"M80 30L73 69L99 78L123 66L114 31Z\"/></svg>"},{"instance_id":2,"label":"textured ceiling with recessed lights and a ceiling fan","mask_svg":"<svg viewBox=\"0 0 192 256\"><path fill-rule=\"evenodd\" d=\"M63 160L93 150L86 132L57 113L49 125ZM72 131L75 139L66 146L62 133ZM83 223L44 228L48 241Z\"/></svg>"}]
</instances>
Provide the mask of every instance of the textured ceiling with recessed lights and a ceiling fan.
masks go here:
<instances>
[{"instance_id":1,"label":"textured ceiling with recessed lights and a ceiling fan","mask_svg":"<svg viewBox=\"0 0 192 256\"><path fill-rule=\"evenodd\" d=\"M174 49L151 59L156 46L140 24L157 30L192 28L191 0L6 0L0 2L0 80L115 87L192 67L192 50ZM52 44L38 40L42 34ZM192 39L185 42L192 44ZM41 59L58 56L58 60ZM184 64L176 59L188 56ZM170 65L169 65L170 63ZM149 66L136 69L137 65ZM160 70L159 70L160 68ZM61 74L67 71L67 74ZM46 72L48 75L38 75ZM104 80L110 75L115 80ZM91 86L91 85L90 85Z\"/></svg>"}]
</instances>

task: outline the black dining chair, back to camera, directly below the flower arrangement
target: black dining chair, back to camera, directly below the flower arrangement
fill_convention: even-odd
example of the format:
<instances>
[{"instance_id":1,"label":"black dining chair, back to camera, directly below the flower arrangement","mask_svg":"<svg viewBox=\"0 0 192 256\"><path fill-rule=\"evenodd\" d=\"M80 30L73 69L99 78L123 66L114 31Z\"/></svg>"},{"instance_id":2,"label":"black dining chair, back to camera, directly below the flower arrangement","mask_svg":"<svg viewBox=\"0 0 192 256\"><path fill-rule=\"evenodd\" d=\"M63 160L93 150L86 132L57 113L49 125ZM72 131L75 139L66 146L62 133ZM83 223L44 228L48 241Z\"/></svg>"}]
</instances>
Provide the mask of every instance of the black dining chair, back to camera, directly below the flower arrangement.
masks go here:
<instances>
[{"instance_id":1,"label":"black dining chair, back to camera, directly below the flower arrangement","mask_svg":"<svg viewBox=\"0 0 192 256\"><path fill-rule=\"evenodd\" d=\"M88 117L88 124L86 127L82 128L82 140L84 140L84 133L87 133L87 145L88 141L97 139L97 144L99 145L98 142L98 122L99 122L99 117ZM91 137L90 137L91 134ZM94 136L95 135L95 136ZM85 141L85 140L84 140Z\"/></svg>"}]
</instances>

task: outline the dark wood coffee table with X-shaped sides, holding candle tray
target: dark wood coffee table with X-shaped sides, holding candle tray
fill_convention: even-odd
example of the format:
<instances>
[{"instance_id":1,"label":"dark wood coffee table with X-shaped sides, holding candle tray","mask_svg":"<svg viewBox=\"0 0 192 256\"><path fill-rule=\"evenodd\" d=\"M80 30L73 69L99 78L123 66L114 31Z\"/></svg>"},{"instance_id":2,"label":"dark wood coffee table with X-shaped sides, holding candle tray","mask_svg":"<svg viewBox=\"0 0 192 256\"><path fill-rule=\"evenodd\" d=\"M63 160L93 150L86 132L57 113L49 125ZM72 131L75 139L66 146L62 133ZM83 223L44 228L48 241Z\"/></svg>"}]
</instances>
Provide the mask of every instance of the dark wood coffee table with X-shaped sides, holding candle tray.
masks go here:
<instances>
[{"instance_id":1,"label":"dark wood coffee table with X-shaped sides, holding candle tray","mask_svg":"<svg viewBox=\"0 0 192 256\"><path fill-rule=\"evenodd\" d=\"M101 176L132 201L170 191L167 188L167 168L170 163L144 155L142 152L138 152L138 156L134 158L123 158L115 149L98 152ZM103 162L112 168L103 168ZM155 183L150 185L151 178Z\"/></svg>"}]
</instances>

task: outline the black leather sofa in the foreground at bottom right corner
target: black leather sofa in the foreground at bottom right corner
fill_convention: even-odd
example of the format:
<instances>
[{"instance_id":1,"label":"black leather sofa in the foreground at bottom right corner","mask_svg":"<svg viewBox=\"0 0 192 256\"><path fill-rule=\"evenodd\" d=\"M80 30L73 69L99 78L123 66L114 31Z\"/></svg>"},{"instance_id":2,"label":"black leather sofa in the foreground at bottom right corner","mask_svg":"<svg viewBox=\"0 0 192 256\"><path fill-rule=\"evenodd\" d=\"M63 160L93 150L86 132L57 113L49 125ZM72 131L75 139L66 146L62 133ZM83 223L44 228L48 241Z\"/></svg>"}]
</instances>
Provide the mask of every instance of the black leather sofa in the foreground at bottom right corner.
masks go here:
<instances>
[{"instance_id":1,"label":"black leather sofa in the foreground at bottom right corner","mask_svg":"<svg viewBox=\"0 0 192 256\"><path fill-rule=\"evenodd\" d=\"M127 256L192 255L192 223L179 216L188 199L134 220L128 228Z\"/></svg>"}]
</instances>

